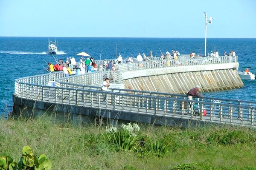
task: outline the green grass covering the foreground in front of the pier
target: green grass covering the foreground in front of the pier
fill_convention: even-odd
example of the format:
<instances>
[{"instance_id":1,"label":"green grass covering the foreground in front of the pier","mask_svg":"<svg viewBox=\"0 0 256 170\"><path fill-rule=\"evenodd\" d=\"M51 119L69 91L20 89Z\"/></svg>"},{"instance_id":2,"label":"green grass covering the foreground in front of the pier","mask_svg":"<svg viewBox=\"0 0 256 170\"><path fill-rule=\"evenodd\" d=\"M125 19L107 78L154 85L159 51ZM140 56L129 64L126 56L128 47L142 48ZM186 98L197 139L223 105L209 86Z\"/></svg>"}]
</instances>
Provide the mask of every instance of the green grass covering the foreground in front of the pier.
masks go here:
<instances>
[{"instance_id":1,"label":"green grass covering the foreground in front of the pier","mask_svg":"<svg viewBox=\"0 0 256 170\"><path fill-rule=\"evenodd\" d=\"M0 119L0 155L18 161L23 146L28 145L35 155L46 154L53 170L256 170L256 130L140 127L139 139L166 145L163 157L116 150L104 136L105 127L53 123L48 117Z\"/></svg>"}]
</instances>

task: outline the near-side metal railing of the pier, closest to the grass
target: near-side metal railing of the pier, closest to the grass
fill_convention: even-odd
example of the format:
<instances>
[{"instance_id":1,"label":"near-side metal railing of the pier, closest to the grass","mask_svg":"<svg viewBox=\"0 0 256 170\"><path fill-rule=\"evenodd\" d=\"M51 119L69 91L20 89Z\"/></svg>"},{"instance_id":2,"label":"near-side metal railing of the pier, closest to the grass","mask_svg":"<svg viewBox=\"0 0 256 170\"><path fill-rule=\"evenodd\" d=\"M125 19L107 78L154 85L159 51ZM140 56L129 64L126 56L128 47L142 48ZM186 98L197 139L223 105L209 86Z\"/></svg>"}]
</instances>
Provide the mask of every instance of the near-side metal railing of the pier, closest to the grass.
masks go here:
<instances>
[{"instance_id":1,"label":"near-side metal railing of the pier, closest to the grass","mask_svg":"<svg viewBox=\"0 0 256 170\"><path fill-rule=\"evenodd\" d=\"M255 107L250 105L208 102L205 99L191 101L175 96L146 95L143 92L141 95L103 92L97 90L100 87L81 89L32 85L23 82L19 84L20 94L15 94L15 96L25 99L255 127ZM113 89L113 91L115 90ZM103 94L107 94L106 104L102 104ZM193 107L192 114L186 114L189 102ZM197 113L198 116L193 113Z\"/></svg>"}]
</instances>

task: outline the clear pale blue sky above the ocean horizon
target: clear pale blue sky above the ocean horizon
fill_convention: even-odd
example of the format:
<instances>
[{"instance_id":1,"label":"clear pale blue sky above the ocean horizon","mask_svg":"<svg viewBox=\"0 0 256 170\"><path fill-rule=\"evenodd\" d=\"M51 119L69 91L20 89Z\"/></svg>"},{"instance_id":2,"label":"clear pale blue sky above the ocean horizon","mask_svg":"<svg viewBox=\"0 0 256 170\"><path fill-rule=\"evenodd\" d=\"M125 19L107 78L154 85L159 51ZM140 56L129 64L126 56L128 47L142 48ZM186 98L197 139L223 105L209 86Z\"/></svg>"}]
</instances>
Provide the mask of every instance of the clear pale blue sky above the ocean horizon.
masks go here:
<instances>
[{"instance_id":1,"label":"clear pale blue sky above the ocean horizon","mask_svg":"<svg viewBox=\"0 0 256 170\"><path fill-rule=\"evenodd\" d=\"M256 38L256 0L0 0L0 36Z\"/></svg>"}]
</instances>

